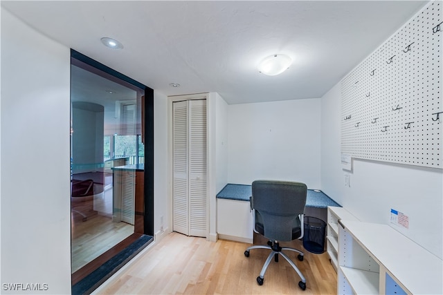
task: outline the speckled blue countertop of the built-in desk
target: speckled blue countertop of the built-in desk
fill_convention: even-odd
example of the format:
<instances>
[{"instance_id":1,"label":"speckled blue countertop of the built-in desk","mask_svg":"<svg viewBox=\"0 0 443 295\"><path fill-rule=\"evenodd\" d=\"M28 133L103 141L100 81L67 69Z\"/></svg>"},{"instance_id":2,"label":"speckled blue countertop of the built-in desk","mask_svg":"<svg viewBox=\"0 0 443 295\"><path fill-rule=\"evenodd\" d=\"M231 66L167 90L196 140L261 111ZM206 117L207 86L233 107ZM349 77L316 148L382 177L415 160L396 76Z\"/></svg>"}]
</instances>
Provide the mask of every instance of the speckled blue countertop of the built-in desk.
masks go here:
<instances>
[{"instance_id":1,"label":"speckled blue countertop of the built-in desk","mask_svg":"<svg viewBox=\"0 0 443 295\"><path fill-rule=\"evenodd\" d=\"M217 198L226 200L248 201L252 196L252 187L247 184L226 184L226 186L217 193ZM329 198L323 191L308 189L306 198L306 207L327 208L328 206L341 207L337 202Z\"/></svg>"}]
</instances>

